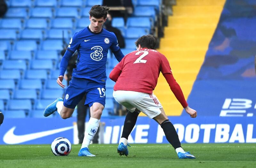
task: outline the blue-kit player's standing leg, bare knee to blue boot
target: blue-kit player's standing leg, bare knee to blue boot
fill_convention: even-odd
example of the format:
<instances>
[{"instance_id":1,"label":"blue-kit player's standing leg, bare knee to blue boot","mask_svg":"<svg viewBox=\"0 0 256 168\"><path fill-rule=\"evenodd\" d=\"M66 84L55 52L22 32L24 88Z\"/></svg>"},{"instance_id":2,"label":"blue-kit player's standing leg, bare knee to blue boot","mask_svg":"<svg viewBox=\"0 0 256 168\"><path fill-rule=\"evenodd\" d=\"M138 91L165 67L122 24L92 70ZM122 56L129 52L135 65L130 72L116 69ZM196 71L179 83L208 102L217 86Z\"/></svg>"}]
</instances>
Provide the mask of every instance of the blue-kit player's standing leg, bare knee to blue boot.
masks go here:
<instances>
[{"instance_id":1,"label":"blue-kit player's standing leg, bare knee to blue boot","mask_svg":"<svg viewBox=\"0 0 256 168\"><path fill-rule=\"evenodd\" d=\"M98 131L98 128L100 125L100 117L103 109L104 109L104 106L99 102L94 102L90 107L91 118L88 124L86 125L84 140L82 143L82 147L78 152L78 156L95 156L90 153L88 147L93 137L95 136L96 132Z\"/></svg>"}]
</instances>

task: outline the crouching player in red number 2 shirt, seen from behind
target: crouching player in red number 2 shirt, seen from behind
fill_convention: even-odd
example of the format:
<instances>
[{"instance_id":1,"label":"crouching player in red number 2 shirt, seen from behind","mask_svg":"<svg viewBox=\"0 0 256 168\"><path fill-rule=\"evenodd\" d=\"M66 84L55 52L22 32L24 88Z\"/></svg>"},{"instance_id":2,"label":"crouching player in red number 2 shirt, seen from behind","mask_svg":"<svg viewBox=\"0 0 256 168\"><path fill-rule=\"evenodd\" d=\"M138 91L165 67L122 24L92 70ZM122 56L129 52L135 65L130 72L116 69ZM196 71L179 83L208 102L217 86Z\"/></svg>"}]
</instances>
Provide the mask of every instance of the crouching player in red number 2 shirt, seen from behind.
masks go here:
<instances>
[{"instance_id":1,"label":"crouching player in red number 2 shirt, seen from behind","mask_svg":"<svg viewBox=\"0 0 256 168\"><path fill-rule=\"evenodd\" d=\"M168 120L161 103L153 94L160 72L164 75L180 104L192 118L196 117L196 110L188 107L179 84L172 76L172 70L166 57L154 50L156 38L152 35L142 36L135 44L137 50L127 54L109 75L110 79L116 82L113 92L115 100L129 110L125 117L117 152L121 156L128 155L127 139L141 111L161 125L166 139L172 144L180 159L196 158L181 148L173 124Z\"/></svg>"}]
</instances>

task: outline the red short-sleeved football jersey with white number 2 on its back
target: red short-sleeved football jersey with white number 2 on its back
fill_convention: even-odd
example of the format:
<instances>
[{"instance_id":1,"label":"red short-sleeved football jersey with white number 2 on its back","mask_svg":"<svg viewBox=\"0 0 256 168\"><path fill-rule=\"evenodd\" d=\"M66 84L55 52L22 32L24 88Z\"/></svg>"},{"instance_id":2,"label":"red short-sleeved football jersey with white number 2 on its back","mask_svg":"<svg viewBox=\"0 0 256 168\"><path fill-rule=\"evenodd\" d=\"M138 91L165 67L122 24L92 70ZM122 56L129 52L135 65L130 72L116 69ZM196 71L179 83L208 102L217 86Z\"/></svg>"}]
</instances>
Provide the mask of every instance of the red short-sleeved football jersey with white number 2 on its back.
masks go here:
<instances>
[{"instance_id":1,"label":"red short-sleeved football jersey with white number 2 on its back","mask_svg":"<svg viewBox=\"0 0 256 168\"><path fill-rule=\"evenodd\" d=\"M127 54L115 68L122 71L114 86L115 91L152 93L160 72L172 74L167 58L148 48Z\"/></svg>"}]
</instances>

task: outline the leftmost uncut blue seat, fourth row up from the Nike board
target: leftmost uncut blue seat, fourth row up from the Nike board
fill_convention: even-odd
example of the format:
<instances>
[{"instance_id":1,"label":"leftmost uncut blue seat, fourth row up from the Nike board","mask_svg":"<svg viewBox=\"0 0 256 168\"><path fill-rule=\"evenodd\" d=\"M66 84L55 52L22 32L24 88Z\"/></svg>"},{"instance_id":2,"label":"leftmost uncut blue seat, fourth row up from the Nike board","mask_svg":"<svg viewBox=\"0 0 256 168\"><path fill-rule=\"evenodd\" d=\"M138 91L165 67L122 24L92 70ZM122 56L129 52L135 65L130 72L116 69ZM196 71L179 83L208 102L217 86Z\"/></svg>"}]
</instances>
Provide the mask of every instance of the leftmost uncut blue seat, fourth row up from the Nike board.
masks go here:
<instances>
[{"instance_id":1,"label":"leftmost uncut blue seat, fourth row up from the Nike board","mask_svg":"<svg viewBox=\"0 0 256 168\"><path fill-rule=\"evenodd\" d=\"M19 85L20 89L41 90L43 87L41 79L21 79Z\"/></svg>"}]
</instances>

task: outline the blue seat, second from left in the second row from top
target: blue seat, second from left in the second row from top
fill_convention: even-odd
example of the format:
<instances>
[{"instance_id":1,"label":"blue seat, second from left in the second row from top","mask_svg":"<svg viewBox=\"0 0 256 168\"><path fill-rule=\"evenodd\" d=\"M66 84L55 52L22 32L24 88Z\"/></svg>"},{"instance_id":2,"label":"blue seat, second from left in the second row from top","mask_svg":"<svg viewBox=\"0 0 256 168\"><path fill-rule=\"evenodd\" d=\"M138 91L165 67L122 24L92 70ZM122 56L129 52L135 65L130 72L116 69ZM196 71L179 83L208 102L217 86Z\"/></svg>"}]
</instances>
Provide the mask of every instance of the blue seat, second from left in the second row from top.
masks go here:
<instances>
[{"instance_id":1,"label":"blue seat, second from left in the second row from top","mask_svg":"<svg viewBox=\"0 0 256 168\"><path fill-rule=\"evenodd\" d=\"M52 18L52 8L36 7L31 10L31 17L34 18Z\"/></svg>"}]
</instances>

